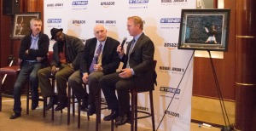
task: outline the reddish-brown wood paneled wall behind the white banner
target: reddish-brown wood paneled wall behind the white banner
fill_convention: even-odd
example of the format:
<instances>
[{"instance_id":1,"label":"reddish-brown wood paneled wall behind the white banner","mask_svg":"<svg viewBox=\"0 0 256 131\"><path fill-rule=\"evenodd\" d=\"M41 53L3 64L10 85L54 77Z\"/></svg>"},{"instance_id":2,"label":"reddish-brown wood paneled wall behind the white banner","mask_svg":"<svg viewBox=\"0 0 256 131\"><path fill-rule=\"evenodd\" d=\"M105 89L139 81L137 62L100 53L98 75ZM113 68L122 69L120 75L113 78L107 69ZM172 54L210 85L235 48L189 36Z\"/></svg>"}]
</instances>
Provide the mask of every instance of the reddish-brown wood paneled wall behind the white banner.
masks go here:
<instances>
[{"instance_id":1,"label":"reddish-brown wood paneled wall behind the white banner","mask_svg":"<svg viewBox=\"0 0 256 131\"><path fill-rule=\"evenodd\" d=\"M213 59L215 70L218 77L218 83L221 88L224 99L235 100L235 0L224 0L225 9L231 9L230 17L230 34L229 34L229 51L224 53L224 59ZM217 4L217 3L214 3ZM214 5L216 6L216 5ZM9 57L9 30L10 30L10 17L3 15L3 8L1 3L1 66L8 64ZM21 12L41 12L41 19L44 20L44 0L20 0ZM44 26L44 24L43 24ZM17 58L17 53L20 48L20 40L14 42L14 54ZM207 58L195 57L194 61L194 84L193 94L218 98L217 89L212 74L212 66L210 60Z\"/></svg>"}]
</instances>

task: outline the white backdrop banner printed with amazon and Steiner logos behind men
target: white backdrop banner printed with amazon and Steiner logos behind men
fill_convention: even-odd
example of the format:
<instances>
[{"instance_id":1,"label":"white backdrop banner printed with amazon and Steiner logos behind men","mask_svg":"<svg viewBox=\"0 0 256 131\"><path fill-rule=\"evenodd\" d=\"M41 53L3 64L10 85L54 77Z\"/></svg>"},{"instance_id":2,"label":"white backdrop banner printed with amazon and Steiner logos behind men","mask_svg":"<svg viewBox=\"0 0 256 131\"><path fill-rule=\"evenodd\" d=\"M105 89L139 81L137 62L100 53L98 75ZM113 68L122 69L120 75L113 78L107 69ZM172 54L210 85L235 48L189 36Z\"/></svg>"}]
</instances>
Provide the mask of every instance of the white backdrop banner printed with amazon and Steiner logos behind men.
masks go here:
<instances>
[{"instance_id":1,"label":"white backdrop banner printed with amazon and Steiner logos behind men","mask_svg":"<svg viewBox=\"0 0 256 131\"><path fill-rule=\"evenodd\" d=\"M193 59L190 63L189 60L193 51L179 50L177 43L181 9L195 9L195 4L195 0L44 0L44 33L51 37L51 28L63 28L64 33L79 37L85 43L94 37L94 26L103 24L108 37L119 42L127 37L127 41L131 41L126 30L127 17L142 17L144 33L154 42L154 60L157 60L155 126L165 131L188 131L193 82ZM49 50L53 43L51 41ZM138 100L138 110L150 111L148 94L139 94ZM109 112L102 111L102 117ZM139 127L152 127L150 117L138 122Z\"/></svg>"}]
</instances>

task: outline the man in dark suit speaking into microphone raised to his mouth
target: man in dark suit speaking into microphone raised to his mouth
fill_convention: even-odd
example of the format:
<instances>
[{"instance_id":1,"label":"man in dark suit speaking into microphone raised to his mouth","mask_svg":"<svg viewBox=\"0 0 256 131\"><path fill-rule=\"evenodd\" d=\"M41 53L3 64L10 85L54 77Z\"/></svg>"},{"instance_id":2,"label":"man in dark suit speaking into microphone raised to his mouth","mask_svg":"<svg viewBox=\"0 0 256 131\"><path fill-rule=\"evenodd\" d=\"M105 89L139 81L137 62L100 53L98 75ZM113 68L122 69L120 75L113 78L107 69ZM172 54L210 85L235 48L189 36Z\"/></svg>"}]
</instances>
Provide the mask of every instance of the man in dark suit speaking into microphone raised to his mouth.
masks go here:
<instances>
[{"instance_id":1,"label":"man in dark suit speaking into microphone raised to his mouth","mask_svg":"<svg viewBox=\"0 0 256 131\"><path fill-rule=\"evenodd\" d=\"M119 47L119 58L124 62L120 72L104 76L100 80L103 94L112 112L104 117L110 121L116 117L115 125L123 125L131 115L129 90L137 88L147 91L154 89L154 43L143 33L143 20L138 16L127 19L127 30L133 37L128 44L126 54ZM118 99L115 95L117 90Z\"/></svg>"}]
</instances>

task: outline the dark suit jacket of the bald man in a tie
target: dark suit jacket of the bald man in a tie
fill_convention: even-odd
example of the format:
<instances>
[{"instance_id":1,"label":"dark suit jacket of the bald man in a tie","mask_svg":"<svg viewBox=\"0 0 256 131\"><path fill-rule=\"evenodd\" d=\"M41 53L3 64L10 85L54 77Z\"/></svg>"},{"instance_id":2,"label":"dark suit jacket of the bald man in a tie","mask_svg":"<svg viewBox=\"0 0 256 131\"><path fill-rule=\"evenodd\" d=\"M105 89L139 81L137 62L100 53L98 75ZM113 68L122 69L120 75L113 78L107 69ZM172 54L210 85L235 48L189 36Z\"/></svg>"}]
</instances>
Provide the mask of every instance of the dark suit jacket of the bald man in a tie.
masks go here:
<instances>
[{"instance_id":1,"label":"dark suit jacket of the bald man in a tie","mask_svg":"<svg viewBox=\"0 0 256 131\"><path fill-rule=\"evenodd\" d=\"M96 50L96 37L86 40L84 46L84 53L82 55L80 63L80 73L89 73L90 64L93 60ZM116 52L116 48L119 46L119 42L112 37L107 37L106 43L102 50L102 69L104 75L113 73L119 67L119 54Z\"/></svg>"}]
</instances>

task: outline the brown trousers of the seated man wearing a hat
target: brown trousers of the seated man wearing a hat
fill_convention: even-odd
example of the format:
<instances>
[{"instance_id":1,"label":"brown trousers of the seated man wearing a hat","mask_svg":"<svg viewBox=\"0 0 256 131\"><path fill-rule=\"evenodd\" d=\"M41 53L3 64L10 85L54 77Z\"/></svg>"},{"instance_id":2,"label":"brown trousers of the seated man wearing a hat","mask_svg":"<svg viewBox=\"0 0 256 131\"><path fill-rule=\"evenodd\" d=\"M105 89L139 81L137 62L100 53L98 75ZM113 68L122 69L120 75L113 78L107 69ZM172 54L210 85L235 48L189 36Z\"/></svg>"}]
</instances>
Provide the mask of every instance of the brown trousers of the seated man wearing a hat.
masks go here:
<instances>
[{"instance_id":1,"label":"brown trousers of the seated man wearing a hat","mask_svg":"<svg viewBox=\"0 0 256 131\"><path fill-rule=\"evenodd\" d=\"M65 102L67 100L67 78L73 74L74 69L67 64L61 64L60 68L61 70L55 73L55 81L57 83L58 100L59 102ZM55 88L51 88L50 77L52 77L50 66L38 71L39 87L44 98L55 95Z\"/></svg>"}]
</instances>

